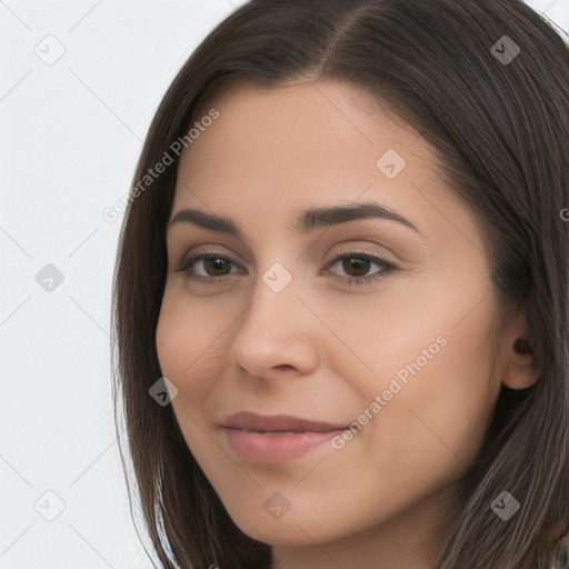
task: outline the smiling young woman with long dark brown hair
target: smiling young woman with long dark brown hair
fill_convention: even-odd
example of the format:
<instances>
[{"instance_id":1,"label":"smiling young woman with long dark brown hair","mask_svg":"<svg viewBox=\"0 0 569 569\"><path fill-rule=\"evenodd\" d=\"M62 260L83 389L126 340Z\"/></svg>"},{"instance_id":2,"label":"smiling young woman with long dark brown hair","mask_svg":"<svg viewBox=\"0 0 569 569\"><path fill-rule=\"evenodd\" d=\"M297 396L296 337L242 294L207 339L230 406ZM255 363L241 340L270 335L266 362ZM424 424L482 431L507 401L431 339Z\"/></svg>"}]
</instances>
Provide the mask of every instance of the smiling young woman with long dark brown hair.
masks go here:
<instances>
[{"instance_id":1,"label":"smiling young woman with long dark brown hair","mask_svg":"<svg viewBox=\"0 0 569 569\"><path fill-rule=\"evenodd\" d=\"M206 38L113 290L163 567L568 567L568 143L520 1L253 0Z\"/></svg>"}]
</instances>

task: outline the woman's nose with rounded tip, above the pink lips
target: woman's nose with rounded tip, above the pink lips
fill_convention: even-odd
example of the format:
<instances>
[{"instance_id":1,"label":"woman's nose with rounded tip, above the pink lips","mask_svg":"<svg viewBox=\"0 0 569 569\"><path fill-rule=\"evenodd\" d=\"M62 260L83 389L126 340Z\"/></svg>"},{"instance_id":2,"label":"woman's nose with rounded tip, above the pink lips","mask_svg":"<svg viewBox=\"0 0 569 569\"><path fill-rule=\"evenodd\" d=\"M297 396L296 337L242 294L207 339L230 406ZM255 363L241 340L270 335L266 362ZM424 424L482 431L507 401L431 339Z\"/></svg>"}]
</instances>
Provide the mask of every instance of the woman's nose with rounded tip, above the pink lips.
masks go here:
<instances>
[{"instance_id":1,"label":"woman's nose with rounded tip, above the pink lips","mask_svg":"<svg viewBox=\"0 0 569 569\"><path fill-rule=\"evenodd\" d=\"M295 279L274 292L259 278L253 299L236 325L231 360L256 378L280 377L286 370L309 375L318 368L317 332L322 325L293 283Z\"/></svg>"}]
</instances>

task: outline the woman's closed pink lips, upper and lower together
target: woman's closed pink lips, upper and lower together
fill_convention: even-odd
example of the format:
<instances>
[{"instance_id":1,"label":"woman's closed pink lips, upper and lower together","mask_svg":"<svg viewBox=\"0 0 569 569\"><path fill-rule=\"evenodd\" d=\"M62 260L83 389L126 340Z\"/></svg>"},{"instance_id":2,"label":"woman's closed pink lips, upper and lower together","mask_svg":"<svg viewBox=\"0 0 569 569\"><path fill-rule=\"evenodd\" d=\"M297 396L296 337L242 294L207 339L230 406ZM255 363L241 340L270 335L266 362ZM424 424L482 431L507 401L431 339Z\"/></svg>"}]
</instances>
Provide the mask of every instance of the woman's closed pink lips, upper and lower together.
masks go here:
<instances>
[{"instance_id":1,"label":"woman's closed pink lips, upper and lower together","mask_svg":"<svg viewBox=\"0 0 569 569\"><path fill-rule=\"evenodd\" d=\"M229 446L240 456L276 465L300 458L348 427L287 415L268 417L241 411L224 419L221 428Z\"/></svg>"}]
</instances>

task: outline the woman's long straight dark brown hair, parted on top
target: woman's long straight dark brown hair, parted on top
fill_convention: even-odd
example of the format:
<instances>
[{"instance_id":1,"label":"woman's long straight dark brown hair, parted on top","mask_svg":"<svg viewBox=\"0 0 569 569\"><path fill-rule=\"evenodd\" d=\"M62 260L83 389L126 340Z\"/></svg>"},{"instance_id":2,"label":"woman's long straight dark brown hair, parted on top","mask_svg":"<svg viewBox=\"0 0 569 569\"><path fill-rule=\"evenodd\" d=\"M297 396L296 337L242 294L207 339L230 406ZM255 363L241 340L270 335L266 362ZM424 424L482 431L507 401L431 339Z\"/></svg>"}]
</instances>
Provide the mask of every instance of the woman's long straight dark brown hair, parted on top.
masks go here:
<instances>
[{"instance_id":1,"label":"woman's long straight dark brown hair, parted on top","mask_svg":"<svg viewBox=\"0 0 569 569\"><path fill-rule=\"evenodd\" d=\"M319 79L367 91L437 149L446 180L487 228L501 309L528 316L531 347L520 349L533 350L539 379L522 391L502 388L436 568L547 568L569 519L568 46L521 0L252 0L177 74L133 186L222 90ZM162 376L154 333L178 166L169 154L173 163L131 193L120 234L114 409L121 391L137 491L162 567L264 569L270 547L233 523L171 406L149 396ZM507 522L490 509L503 490L522 503Z\"/></svg>"}]
</instances>

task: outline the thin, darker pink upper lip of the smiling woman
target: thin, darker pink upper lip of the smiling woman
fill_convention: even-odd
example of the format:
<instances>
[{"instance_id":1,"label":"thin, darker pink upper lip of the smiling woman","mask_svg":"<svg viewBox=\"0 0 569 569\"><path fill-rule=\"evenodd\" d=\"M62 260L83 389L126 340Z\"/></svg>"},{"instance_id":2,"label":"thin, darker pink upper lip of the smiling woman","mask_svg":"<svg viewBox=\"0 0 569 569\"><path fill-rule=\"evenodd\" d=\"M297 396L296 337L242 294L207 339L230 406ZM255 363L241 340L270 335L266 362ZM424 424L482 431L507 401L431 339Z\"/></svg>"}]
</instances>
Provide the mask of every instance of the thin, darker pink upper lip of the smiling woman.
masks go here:
<instances>
[{"instance_id":1,"label":"thin, darker pink upper lip of the smiling woman","mask_svg":"<svg viewBox=\"0 0 569 569\"><path fill-rule=\"evenodd\" d=\"M346 426L322 421L312 421L288 415L261 416L249 411L230 415L222 421L222 427L257 432L326 432L346 429Z\"/></svg>"}]
</instances>

